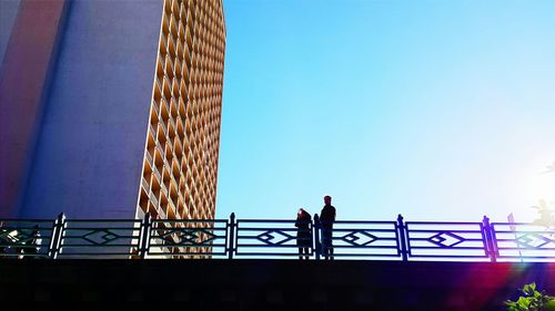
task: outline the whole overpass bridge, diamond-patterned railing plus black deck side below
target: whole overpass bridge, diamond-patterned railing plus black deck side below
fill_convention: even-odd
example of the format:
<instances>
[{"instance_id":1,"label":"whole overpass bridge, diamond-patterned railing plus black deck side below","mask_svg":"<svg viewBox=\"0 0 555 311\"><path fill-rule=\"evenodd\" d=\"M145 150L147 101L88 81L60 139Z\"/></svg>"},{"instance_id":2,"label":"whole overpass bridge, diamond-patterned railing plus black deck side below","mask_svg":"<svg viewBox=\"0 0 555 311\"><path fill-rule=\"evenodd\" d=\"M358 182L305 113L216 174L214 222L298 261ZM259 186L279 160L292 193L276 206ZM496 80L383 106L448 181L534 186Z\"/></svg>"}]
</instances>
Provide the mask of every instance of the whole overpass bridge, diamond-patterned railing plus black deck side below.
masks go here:
<instances>
[{"instance_id":1,"label":"whole overpass bridge, diamond-patterned railing plus black deck side below","mask_svg":"<svg viewBox=\"0 0 555 311\"><path fill-rule=\"evenodd\" d=\"M294 220L3 219L0 300L467 311L503 310L529 282L555 291L551 227L336 221L325 260L315 219L309 260L299 259Z\"/></svg>"}]
</instances>

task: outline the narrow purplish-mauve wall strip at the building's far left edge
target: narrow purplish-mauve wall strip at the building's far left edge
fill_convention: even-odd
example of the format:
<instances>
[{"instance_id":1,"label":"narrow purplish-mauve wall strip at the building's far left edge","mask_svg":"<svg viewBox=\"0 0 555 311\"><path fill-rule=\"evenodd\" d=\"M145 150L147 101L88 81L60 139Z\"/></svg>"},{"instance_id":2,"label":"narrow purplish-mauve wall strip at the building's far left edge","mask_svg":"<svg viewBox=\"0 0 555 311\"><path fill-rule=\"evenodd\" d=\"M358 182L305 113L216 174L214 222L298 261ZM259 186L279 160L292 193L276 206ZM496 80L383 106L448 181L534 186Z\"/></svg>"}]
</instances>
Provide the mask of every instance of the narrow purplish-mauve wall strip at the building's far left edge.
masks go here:
<instances>
[{"instance_id":1,"label":"narrow purplish-mauve wall strip at the building's far left edge","mask_svg":"<svg viewBox=\"0 0 555 311\"><path fill-rule=\"evenodd\" d=\"M14 20L0 71L0 217L14 217L23 195L67 4L21 0L17 11L1 8Z\"/></svg>"}]
</instances>

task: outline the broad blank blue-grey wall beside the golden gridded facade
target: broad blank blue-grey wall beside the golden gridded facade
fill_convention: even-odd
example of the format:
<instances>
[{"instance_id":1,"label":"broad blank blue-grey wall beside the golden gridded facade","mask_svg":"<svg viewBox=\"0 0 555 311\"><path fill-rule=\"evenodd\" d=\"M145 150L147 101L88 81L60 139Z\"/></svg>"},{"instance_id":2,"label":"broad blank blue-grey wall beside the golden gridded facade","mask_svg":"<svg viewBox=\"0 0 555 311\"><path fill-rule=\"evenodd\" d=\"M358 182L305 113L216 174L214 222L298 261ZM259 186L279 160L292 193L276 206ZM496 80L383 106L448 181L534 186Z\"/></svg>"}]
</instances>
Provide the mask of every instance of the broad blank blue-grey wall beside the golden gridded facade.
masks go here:
<instances>
[{"instance_id":1,"label":"broad blank blue-grey wall beside the golden gridded facade","mask_svg":"<svg viewBox=\"0 0 555 311\"><path fill-rule=\"evenodd\" d=\"M71 1L19 217L134 217L162 9Z\"/></svg>"}]
</instances>

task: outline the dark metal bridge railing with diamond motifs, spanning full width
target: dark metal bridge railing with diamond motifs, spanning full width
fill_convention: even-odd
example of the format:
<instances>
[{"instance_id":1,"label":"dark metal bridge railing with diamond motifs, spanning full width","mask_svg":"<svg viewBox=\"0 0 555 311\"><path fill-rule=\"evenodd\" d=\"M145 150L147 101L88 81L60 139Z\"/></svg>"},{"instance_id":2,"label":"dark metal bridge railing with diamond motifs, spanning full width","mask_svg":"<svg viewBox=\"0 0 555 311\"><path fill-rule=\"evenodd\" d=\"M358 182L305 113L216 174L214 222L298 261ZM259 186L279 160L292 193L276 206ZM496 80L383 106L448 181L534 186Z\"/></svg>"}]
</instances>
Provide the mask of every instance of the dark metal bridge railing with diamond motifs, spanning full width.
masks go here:
<instances>
[{"instance_id":1,"label":"dark metal bridge railing with diamond motifs, spanning full width","mask_svg":"<svg viewBox=\"0 0 555 311\"><path fill-rule=\"evenodd\" d=\"M0 258L364 259L555 262L555 228L535 224L346 221L331 246L314 220L289 219L0 219ZM330 252L326 256L326 250Z\"/></svg>"}]
</instances>

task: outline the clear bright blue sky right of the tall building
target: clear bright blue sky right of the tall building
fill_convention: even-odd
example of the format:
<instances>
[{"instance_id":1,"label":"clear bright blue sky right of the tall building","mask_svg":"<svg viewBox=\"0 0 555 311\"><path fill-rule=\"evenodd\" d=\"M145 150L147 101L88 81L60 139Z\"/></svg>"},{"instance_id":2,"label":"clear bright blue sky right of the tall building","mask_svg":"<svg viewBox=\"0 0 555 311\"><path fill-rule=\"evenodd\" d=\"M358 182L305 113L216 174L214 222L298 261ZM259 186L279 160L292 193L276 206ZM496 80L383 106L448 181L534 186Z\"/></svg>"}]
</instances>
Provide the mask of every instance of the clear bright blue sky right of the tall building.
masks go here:
<instances>
[{"instance_id":1,"label":"clear bright blue sky right of the tall building","mask_svg":"<svg viewBox=\"0 0 555 311\"><path fill-rule=\"evenodd\" d=\"M339 219L531 221L555 200L555 1L224 10L218 218L330 194Z\"/></svg>"}]
</instances>

